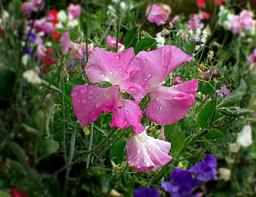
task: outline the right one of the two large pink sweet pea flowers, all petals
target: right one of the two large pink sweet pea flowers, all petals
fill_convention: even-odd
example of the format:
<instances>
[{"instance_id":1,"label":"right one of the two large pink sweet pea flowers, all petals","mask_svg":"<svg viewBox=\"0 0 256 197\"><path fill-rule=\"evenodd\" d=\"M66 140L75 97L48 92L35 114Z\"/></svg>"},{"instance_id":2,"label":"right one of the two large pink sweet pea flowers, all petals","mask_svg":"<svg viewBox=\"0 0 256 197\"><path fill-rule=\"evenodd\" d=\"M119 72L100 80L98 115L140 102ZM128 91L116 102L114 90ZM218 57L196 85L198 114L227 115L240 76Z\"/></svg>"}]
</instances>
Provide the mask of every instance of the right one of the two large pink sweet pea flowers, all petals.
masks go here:
<instances>
[{"instance_id":1,"label":"right one of the two large pink sweet pea flowers, all petals","mask_svg":"<svg viewBox=\"0 0 256 197\"><path fill-rule=\"evenodd\" d=\"M141 51L132 64L142 69L130 77L129 87L124 84L123 89L133 96L135 102L140 102L148 94L151 100L145 111L147 119L159 124L172 124L183 118L194 103L198 82L195 79L172 87L161 84L175 68L191 60L193 57L175 46Z\"/></svg>"}]
</instances>

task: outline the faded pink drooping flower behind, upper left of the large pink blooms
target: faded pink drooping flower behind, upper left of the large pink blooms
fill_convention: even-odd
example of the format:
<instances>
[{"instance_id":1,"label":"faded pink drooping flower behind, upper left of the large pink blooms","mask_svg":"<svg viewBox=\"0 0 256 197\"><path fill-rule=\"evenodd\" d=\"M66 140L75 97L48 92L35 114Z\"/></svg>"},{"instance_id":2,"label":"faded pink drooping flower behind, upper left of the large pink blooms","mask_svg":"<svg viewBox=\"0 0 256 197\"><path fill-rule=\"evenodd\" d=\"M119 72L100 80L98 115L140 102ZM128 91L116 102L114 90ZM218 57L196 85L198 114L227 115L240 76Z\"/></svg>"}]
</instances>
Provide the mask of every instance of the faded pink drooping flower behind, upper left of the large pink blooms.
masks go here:
<instances>
[{"instance_id":1,"label":"faded pink drooping flower behind, upper left of the large pink blooms","mask_svg":"<svg viewBox=\"0 0 256 197\"><path fill-rule=\"evenodd\" d=\"M83 52L80 50L80 46L70 40L68 31L61 37L61 50L64 54L67 54L70 50L69 57L71 59L83 58Z\"/></svg>"}]
</instances>

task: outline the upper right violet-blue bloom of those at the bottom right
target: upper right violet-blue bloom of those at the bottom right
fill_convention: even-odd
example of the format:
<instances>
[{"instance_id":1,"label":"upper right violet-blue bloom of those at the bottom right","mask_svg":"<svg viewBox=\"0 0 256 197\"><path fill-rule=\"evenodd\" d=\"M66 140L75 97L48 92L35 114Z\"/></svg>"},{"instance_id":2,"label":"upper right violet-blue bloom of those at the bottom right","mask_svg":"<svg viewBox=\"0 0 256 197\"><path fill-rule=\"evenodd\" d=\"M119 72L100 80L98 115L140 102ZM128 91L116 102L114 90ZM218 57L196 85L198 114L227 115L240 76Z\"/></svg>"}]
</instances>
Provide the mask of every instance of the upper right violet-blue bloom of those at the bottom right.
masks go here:
<instances>
[{"instance_id":1,"label":"upper right violet-blue bloom of those at the bottom right","mask_svg":"<svg viewBox=\"0 0 256 197\"><path fill-rule=\"evenodd\" d=\"M191 174L197 174L195 179L201 181L217 180L216 176L217 160L214 155L206 154L205 159L195 164L188 170Z\"/></svg>"}]
</instances>

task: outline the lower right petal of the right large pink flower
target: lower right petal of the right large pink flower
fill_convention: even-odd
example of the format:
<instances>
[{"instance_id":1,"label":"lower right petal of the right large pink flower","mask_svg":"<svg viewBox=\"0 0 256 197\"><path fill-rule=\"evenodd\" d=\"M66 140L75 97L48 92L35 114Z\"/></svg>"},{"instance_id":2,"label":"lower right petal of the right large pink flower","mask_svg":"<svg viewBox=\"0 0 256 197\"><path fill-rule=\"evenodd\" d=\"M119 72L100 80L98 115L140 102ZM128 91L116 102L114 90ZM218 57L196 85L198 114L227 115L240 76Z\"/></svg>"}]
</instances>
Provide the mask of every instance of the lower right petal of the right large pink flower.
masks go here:
<instances>
[{"instance_id":1,"label":"lower right petal of the right large pink flower","mask_svg":"<svg viewBox=\"0 0 256 197\"><path fill-rule=\"evenodd\" d=\"M151 100L145 110L147 119L164 125L182 119L195 101L197 88L197 79L169 88L158 87L149 93Z\"/></svg>"}]
</instances>

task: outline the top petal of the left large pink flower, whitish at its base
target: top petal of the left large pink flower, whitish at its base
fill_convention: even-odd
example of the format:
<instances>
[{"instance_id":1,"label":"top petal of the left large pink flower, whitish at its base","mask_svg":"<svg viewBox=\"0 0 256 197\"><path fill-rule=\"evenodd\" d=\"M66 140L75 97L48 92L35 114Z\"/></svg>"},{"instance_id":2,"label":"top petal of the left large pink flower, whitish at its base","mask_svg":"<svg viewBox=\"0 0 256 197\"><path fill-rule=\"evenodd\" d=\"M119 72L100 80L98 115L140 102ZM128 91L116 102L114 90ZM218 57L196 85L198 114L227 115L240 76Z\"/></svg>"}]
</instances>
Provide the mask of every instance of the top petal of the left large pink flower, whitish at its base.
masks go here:
<instances>
[{"instance_id":1,"label":"top petal of the left large pink flower, whitish at its base","mask_svg":"<svg viewBox=\"0 0 256 197\"><path fill-rule=\"evenodd\" d=\"M129 78L132 71L138 70L131 65L134 56L133 48L121 53L111 53L95 47L85 72L92 83L107 81L113 86L120 85L123 80Z\"/></svg>"}]
</instances>

